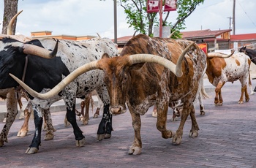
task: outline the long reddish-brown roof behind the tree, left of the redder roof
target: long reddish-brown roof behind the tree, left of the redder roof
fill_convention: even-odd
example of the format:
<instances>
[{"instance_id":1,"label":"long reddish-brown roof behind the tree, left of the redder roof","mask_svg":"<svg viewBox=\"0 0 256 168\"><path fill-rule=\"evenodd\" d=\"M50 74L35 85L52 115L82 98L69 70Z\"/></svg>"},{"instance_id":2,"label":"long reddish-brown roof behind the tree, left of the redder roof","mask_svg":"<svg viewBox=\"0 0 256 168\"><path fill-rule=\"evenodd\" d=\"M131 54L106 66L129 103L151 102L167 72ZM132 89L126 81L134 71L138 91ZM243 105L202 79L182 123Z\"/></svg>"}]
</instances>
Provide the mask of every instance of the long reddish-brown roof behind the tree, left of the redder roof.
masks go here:
<instances>
[{"instance_id":1,"label":"long reddish-brown roof behind the tree, left of the redder roof","mask_svg":"<svg viewBox=\"0 0 256 168\"><path fill-rule=\"evenodd\" d=\"M232 31L231 29L211 31L210 29L200 31L181 31L182 38L184 39L211 39L216 38L221 34Z\"/></svg>"}]
</instances>

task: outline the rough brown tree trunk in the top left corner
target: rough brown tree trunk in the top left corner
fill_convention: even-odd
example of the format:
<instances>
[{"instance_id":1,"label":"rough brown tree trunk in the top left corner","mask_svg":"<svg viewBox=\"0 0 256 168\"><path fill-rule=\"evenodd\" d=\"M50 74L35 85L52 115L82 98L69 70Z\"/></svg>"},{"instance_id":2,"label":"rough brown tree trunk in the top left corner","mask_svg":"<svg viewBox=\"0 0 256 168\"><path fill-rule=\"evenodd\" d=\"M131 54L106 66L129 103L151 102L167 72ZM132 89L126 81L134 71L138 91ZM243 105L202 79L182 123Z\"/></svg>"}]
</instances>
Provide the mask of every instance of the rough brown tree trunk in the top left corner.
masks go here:
<instances>
[{"instance_id":1,"label":"rough brown tree trunk in the top left corner","mask_svg":"<svg viewBox=\"0 0 256 168\"><path fill-rule=\"evenodd\" d=\"M14 15L18 12L18 0L4 0L4 17L1 34L7 34L7 26ZM12 25L12 34L16 31L16 22Z\"/></svg>"}]
</instances>

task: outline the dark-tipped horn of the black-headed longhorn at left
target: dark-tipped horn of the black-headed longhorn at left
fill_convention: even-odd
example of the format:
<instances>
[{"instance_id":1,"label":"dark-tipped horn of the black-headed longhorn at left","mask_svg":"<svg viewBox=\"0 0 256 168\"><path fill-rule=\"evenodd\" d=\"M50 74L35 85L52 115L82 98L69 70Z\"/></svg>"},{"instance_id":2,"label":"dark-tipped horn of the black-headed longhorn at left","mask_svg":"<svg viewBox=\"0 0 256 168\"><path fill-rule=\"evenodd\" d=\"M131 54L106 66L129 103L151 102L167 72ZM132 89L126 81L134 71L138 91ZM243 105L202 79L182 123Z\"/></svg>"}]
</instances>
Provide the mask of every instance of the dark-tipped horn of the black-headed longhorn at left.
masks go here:
<instances>
[{"instance_id":1,"label":"dark-tipped horn of the black-headed longhorn at left","mask_svg":"<svg viewBox=\"0 0 256 168\"><path fill-rule=\"evenodd\" d=\"M54 58L58 51L58 43L59 40L57 40L53 51L38 47L37 45L25 44L23 45L23 53L40 56L42 58Z\"/></svg>"}]
</instances>

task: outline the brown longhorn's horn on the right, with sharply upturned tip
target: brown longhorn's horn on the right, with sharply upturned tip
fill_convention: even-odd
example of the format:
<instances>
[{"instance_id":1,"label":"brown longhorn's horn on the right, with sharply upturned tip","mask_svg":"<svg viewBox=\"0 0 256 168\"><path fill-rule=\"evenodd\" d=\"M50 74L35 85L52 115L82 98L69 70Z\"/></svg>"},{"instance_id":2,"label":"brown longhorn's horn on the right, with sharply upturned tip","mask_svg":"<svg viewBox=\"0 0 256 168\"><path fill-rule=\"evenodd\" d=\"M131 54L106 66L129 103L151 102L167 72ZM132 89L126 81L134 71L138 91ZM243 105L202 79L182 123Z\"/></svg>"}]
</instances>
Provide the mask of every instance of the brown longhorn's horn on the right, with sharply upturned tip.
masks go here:
<instances>
[{"instance_id":1,"label":"brown longhorn's horn on the right, with sharply upturned tip","mask_svg":"<svg viewBox=\"0 0 256 168\"><path fill-rule=\"evenodd\" d=\"M189 50L189 47L194 45L195 42L192 42L189 46L183 50L181 55L178 57L177 64L173 64L172 61L169 61L165 58L162 58L160 56L155 56L151 54L135 54L129 56L129 63L130 64L137 64L137 63L142 63L142 62L151 62L151 63L157 63L162 66L165 66L167 69L170 69L171 72L173 72L174 75L177 77L181 77L183 75L182 69L181 69L181 63L182 60L187 53L187 50Z\"/></svg>"}]
</instances>

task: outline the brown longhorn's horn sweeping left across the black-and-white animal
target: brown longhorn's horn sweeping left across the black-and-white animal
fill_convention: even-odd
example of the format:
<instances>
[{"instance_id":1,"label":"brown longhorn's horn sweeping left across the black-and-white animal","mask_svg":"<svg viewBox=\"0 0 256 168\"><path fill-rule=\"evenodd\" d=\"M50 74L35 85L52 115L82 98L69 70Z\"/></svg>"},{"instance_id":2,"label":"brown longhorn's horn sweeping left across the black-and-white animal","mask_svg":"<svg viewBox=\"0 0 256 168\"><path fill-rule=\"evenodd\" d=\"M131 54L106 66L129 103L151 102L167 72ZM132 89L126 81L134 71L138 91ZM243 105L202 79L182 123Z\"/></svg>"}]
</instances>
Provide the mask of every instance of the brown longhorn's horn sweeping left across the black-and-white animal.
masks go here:
<instances>
[{"instance_id":1,"label":"brown longhorn's horn sweeping left across the black-and-white animal","mask_svg":"<svg viewBox=\"0 0 256 168\"><path fill-rule=\"evenodd\" d=\"M16 80L22 88L24 88L26 91L29 92L29 94L33 97L37 97L39 99L50 99L51 97L58 94L60 91L64 89L66 85L72 82L76 77L79 75L88 72L93 69L98 69L97 61L92 61L89 64L85 64L83 66L80 66L78 69L75 69L75 71L71 72L67 77L65 77L61 82L56 85L54 88L52 88L47 93L38 93L37 91L34 91L32 88L30 88L28 85L23 83L18 77L15 77L12 74L9 74L14 80Z\"/></svg>"}]
</instances>

